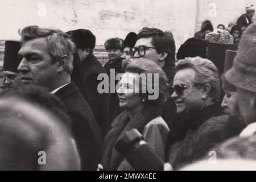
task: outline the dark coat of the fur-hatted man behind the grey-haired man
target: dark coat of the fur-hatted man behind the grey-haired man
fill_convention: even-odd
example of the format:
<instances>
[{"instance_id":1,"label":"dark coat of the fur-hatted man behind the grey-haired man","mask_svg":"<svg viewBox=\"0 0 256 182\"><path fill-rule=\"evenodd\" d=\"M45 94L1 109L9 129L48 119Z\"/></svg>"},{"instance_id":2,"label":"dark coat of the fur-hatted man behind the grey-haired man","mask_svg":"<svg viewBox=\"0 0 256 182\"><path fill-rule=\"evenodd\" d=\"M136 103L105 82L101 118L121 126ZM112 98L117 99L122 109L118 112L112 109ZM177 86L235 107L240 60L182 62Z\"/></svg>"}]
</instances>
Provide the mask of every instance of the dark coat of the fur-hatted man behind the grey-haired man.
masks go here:
<instances>
[{"instance_id":1,"label":"dark coat of the fur-hatted man behind the grey-haired man","mask_svg":"<svg viewBox=\"0 0 256 182\"><path fill-rule=\"evenodd\" d=\"M93 111L98 126L101 129L101 136L104 138L110 129L109 122L109 93L98 93L97 87L101 80L97 80L100 73L105 73L104 67L94 55L88 55L81 64L83 80L88 90L88 104Z\"/></svg>"}]
</instances>

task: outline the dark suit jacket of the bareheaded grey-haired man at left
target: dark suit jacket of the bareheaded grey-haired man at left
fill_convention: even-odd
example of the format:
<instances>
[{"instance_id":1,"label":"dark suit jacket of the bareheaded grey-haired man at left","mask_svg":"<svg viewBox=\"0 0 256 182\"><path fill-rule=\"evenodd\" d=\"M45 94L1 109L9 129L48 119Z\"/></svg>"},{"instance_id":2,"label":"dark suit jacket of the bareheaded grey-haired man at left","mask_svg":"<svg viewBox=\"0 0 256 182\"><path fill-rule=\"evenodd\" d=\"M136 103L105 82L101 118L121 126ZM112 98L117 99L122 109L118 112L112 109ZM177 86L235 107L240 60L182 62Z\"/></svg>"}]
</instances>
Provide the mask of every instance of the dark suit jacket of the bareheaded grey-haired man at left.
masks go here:
<instances>
[{"instance_id":1,"label":"dark suit jacket of the bareheaded grey-haired man at left","mask_svg":"<svg viewBox=\"0 0 256 182\"><path fill-rule=\"evenodd\" d=\"M64 103L71 118L82 170L96 170L101 155L101 134L90 106L73 82L57 90L55 95Z\"/></svg>"}]
</instances>

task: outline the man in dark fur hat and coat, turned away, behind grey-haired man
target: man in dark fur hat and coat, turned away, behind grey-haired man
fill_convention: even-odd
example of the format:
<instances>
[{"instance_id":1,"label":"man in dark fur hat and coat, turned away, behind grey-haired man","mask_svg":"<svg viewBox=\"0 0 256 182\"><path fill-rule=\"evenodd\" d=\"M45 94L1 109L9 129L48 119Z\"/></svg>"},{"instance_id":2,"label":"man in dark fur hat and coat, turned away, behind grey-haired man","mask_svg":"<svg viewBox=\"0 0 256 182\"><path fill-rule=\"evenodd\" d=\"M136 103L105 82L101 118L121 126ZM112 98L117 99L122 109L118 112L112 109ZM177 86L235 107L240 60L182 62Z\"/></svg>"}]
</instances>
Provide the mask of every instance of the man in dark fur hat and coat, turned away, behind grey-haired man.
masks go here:
<instances>
[{"instance_id":1,"label":"man in dark fur hat and coat, turned away, behind grey-haired man","mask_svg":"<svg viewBox=\"0 0 256 182\"><path fill-rule=\"evenodd\" d=\"M88 102L100 126L102 137L105 136L110 124L109 118L109 93L98 93L97 86L101 82L97 80L100 73L106 73L104 67L93 55L96 37L90 30L78 29L68 31L72 41L76 44L81 61L82 80L88 91Z\"/></svg>"}]
</instances>

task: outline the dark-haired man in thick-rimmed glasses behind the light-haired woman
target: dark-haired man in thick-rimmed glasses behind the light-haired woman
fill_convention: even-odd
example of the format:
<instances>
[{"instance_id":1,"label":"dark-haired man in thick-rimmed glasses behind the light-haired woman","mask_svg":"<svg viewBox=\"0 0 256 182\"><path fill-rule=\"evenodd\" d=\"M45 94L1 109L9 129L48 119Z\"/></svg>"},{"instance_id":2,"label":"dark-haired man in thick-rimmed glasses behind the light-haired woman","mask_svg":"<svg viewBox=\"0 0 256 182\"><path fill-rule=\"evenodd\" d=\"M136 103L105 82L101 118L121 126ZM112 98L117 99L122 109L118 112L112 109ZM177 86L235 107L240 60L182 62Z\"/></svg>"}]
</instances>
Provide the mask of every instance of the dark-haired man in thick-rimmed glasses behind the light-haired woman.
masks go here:
<instances>
[{"instance_id":1,"label":"dark-haired man in thick-rimmed glasses behind the light-haired woman","mask_svg":"<svg viewBox=\"0 0 256 182\"><path fill-rule=\"evenodd\" d=\"M142 28L131 52L134 57L145 57L158 64L166 73L168 83L172 85L175 75L175 41L170 31Z\"/></svg>"}]
</instances>

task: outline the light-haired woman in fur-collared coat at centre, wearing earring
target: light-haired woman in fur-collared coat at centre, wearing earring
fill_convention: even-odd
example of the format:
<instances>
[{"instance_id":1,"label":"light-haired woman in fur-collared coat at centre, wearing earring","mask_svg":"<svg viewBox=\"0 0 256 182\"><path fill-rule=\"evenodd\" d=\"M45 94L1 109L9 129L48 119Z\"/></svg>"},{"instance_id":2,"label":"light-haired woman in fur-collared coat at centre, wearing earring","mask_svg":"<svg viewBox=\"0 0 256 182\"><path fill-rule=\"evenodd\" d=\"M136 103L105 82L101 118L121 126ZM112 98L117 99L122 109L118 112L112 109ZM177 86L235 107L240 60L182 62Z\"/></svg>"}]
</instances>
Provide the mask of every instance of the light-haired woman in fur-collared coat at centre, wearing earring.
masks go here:
<instances>
[{"instance_id":1,"label":"light-haired woman in fur-collared coat at centre, wearing earring","mask_svg":"<svg viewBox=\"0 0 256 182\"><path fill-rule=\"evenodd\" d=\"M112 122L102 150L101 168L133 170L115 144L126 131L137 129L149 146L164 160L167 133L170 130L160 115L170 95L167 77L154 61L139 58L123 63L123 73L117 90L119 105L124 111ZM154 92L152 92L152 90Z\"/></svg>"}]
</instances>

